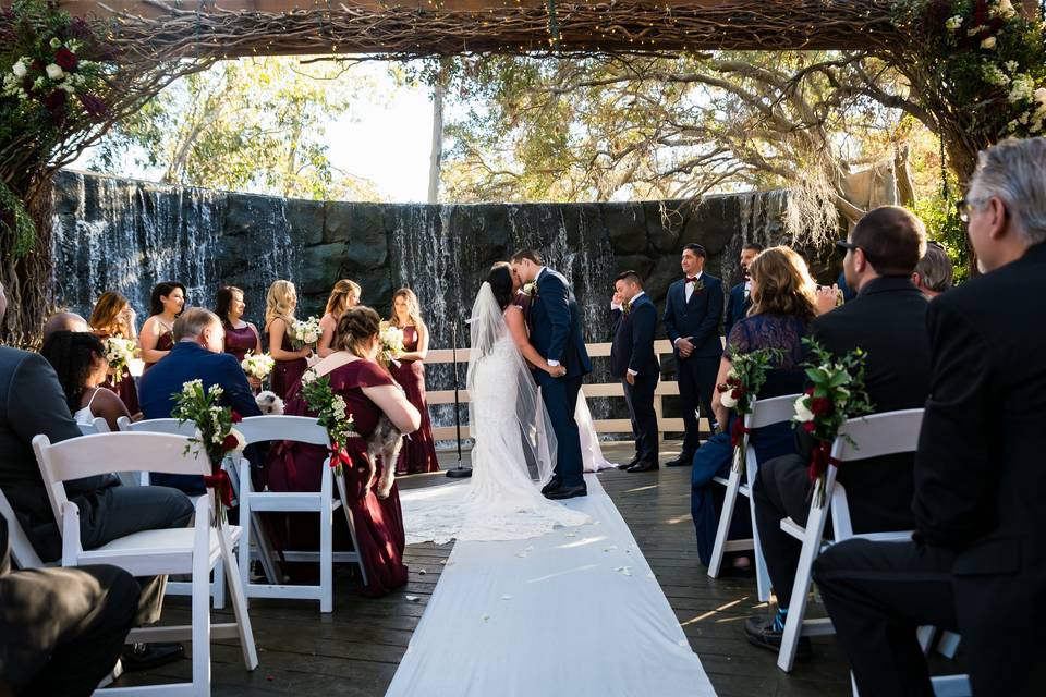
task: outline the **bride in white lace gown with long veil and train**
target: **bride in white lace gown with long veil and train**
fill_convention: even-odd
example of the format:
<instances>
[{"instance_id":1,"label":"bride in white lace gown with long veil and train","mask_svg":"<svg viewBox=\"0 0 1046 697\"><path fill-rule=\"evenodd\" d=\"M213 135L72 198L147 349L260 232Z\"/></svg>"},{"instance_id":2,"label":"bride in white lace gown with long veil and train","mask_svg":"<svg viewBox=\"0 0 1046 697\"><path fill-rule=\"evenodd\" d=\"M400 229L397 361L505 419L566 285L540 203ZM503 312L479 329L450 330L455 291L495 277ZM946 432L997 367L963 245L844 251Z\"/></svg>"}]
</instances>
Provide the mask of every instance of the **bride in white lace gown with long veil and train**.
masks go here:
<instances>
[{"instance_id":1,"label":"bride in white lace gown with long veil and train","mask_svg":"<svg viewBox=\"0 0 1046 697\"><path fill-rule=\"evenodd\" d=\"M531 346L509 265L495 265L470 319L469 358L472 479L403 497L408 543L515 540L588 516L542 496L552 475L556 436L527 363L555 368Z\"/></svg>"}]
</instances>

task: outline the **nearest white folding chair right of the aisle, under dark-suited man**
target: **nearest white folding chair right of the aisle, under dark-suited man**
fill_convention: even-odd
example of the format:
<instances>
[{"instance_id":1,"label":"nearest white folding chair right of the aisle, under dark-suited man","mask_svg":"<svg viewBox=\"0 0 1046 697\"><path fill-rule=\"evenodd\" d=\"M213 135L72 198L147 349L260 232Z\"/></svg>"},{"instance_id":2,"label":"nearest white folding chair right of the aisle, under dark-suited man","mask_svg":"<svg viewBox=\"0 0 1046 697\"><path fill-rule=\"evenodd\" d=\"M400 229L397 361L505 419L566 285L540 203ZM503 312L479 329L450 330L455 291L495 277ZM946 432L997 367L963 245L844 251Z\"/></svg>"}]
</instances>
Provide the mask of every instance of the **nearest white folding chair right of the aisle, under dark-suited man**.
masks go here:
<instances>
[{"instance_id":1,"label":"nearest white folding chair right of the aisle, under dark-suited man","mask_svg":"<svg viewBox=\"0 0 1046 697\"><path fill-rule=\"evenodd\" d=\"M844 464L855 460L914 452L919 448L919 430L922 424L923 409L886 412L850 419L839 429L831 447L831 456ZM828 515L832 516L834 541L855 537L850 523L846 492L840 485L836 484L837 474L836 466L829 465L825 476L824 497L819 496L820 482L815 485L805 527L792 518L781 521L781 529L803 543L795 572L795 584L792 586L791 607L788 609L781 649L777 657L778 667L786 672L790 672L795 662L795 650L801 636L835 632L830 620L806 620L805 613L814 559L824 547ZM837 489L839 489L838 494ZM822 499L824 505L818 505ZM910 539L911 533L862 533L858 537L880 541L902 541Z\"/></svg>"}]
</instances>

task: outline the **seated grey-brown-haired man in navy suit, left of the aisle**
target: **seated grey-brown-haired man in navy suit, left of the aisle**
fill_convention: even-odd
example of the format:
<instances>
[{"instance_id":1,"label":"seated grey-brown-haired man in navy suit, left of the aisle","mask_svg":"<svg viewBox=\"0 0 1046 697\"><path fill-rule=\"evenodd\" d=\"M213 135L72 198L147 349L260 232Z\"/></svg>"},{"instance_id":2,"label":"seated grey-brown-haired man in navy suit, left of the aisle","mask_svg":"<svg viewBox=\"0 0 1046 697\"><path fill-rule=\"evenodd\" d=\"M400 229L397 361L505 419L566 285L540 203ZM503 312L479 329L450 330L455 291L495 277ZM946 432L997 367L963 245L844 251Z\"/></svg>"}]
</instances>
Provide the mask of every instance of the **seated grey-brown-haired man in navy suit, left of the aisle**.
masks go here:
<instances>
[{"instance_id":1,"label":"seated grey-brown-haired man in navy suit, left of the aisle","mask_svg":"<svg viewBox=\"0 0 1046 697\"><path fill-rule=\"evenodd\" d=\"M221 404L231 406L241 416L260 416L247 377L235 356L224 353L226 332L221 320L210 310L190 307L174 320L174 345L161 362L142 376L138 398L145 418L170 418L174 394L191 380L200 380L204 389L219 386ZM252 462L251 455L247 458ZM181 489L191 494L204 492L198 475L153 475L153 481Z\"/></svg>"}]
</instances>

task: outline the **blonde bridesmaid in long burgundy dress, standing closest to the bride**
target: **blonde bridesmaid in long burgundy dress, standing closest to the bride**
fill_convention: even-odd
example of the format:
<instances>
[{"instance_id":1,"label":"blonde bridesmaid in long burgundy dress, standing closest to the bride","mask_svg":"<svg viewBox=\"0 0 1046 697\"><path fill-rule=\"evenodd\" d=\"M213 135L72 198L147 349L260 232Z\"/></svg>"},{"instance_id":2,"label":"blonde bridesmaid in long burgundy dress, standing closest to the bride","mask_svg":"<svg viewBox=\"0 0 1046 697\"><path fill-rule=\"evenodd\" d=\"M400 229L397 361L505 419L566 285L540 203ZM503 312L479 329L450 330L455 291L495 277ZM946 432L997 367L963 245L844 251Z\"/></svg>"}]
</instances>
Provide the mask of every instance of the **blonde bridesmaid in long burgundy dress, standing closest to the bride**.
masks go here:
<instances>
[{"instance_id":1,"label":"blonde bridesmaid in long burgundy dress, standing closest to the bride","mask_svg":"<svg viewBox=\"0 0 1046 697\"><path fill-rule=\"evenodd\" d=\"M401 288L392 295L392 317L389 323L403 330L404 353L400 365L389 366L392 378L403 388L406 399L422 415L422 426L403 442L396 474L413 475L422 472L439 472L436 460L436 443L433 440L433 424L425 403L425 358L428 356L428 328L422 321L417 295L409 288Z\"/></svg>"}]
</instances>

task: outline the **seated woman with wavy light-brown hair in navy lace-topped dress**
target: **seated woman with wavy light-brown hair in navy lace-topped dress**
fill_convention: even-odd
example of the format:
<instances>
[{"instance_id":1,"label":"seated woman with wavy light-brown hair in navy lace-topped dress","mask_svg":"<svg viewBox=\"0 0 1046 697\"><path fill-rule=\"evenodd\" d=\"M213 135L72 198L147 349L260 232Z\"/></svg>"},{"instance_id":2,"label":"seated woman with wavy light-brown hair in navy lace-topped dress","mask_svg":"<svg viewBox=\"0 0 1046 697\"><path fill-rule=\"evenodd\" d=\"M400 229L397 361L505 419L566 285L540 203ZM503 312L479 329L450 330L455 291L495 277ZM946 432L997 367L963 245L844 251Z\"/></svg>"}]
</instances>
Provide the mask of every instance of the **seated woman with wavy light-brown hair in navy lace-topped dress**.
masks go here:
<instances>
[{"instance_id":1,"label":"seated woman with wavy light-brown hair in navy lace-topped dress","mask_svg":"<svg viewBox=\"0 0 1046 697\"><path fill-rule=\"evenodd\" d=\"M752 276L752 308L740 319L727 338L727 350L719 363L717 384L725 382L732 367L734 354L758 348L779 348L784 353L780 364L767 374L758 398L767 399L802 392L804 371L803 337L810 321L817 314L816 285L810 277L806 262L788 247L771 247L759 254L750 267ZM722 487L714 477L730 475L733 448L730 427L737 415L722 405L717 390L713 394L716 419L726 430L710 438L694 455L691 475L691 515L697 534L697 555L706 566L711 561L716 542L719 513L722 509ZM777 424L756 430L751 436L752 447L759 462L795 452L795 438L788 424ZM739 499L734 510L731 539L752 537L751 515L746 503ZM737 568L749 566L747 557L737 557Z\"/></svg>"}]
</instances>

